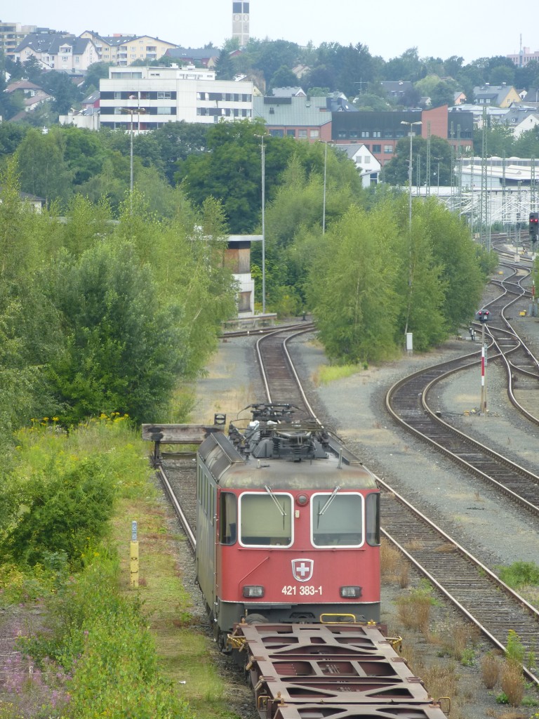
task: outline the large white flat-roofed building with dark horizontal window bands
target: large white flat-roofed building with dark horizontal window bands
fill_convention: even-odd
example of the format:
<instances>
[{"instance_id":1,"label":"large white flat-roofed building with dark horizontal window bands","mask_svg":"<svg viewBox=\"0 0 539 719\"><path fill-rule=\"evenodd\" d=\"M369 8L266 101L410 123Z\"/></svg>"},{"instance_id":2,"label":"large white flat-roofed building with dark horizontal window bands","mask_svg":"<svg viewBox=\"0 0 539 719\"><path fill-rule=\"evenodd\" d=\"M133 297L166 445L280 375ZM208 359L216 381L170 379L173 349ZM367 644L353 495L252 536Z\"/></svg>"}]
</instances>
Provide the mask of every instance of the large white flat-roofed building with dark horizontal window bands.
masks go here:
<instances>
[{"instance_id":1,"label":"large white flat-roofed building with dark horizontal window bands","mask_svg":"<svg viewBox=\"0 0 539 719\"><path fill-rule=\"evenodd\" d=\"M99 83L101 127L153 130L166 122L213 123L252 116L253 83L216 80L213 70L109 68Z\"/></svg>"}]
</instances>

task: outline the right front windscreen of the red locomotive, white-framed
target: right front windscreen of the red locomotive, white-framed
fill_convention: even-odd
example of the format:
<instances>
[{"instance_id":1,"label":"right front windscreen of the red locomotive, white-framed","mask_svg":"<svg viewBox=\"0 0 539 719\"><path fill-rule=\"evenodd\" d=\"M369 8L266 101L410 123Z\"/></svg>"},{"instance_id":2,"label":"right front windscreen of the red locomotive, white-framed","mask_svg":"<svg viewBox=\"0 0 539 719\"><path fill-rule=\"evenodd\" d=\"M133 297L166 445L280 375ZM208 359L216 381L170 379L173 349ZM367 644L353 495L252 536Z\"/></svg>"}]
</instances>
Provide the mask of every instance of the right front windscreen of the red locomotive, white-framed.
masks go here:
<instances>
[{"instance_id":1,"label":"right front windscreen of the red locomotive, white-framed","mask_svg":"<svg viewBox=\"0 0 539 719\"><path fill-rule=\"evenodd\" d=\"M359 494L313 495L311 531L314 546L363 544L363 498Z\"/></svg>"}]
</instances>

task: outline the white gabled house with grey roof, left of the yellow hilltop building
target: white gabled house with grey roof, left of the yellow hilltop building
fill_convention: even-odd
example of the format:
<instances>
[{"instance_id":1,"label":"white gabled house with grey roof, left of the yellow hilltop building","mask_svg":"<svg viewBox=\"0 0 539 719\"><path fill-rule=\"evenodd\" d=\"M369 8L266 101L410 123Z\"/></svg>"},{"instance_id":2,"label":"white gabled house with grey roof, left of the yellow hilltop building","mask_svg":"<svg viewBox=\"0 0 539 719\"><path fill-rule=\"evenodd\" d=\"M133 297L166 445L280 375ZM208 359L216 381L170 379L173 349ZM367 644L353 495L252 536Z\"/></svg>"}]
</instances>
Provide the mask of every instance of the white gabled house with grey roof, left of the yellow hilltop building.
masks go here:
<instances>
[{"instance_id":1,"label":"white gabled house with grey roof, left of the yellow hilltop building","mask_svg":"<svg viewBox=\"0 0 539 719\"><path fill-rule=\"evenodd\" d=\"M25 63L36 58L44 70L79 73L98 61L91 40L74 35L27 35L14 50L14 60Z\"/></svg>"}]
</instances>

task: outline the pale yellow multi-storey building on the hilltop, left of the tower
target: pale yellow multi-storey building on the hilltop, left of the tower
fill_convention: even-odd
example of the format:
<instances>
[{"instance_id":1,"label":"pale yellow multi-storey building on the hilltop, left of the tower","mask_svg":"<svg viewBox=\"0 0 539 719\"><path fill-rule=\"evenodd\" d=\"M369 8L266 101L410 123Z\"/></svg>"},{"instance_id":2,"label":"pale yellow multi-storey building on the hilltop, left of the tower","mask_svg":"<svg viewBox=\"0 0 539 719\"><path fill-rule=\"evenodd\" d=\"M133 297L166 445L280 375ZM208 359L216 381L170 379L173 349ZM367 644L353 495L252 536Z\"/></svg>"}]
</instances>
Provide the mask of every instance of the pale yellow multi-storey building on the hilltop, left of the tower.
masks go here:
<instances>
[{"instance_id":1,"label":"pale yellow multi-storey building on the hilltop, left of the tower","mask_svg":"<svg viewBox=\"0 0 539 719\"><path fill-rule=\"evenodd\" d=\"M178 45L150 35L99 35L85 30L80 37L87 37L97 48L99 61L113 65L132 65L135 60L159 60Z\"/></svg>"}]
</instances>

